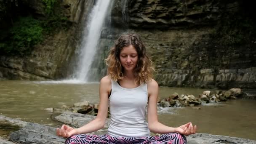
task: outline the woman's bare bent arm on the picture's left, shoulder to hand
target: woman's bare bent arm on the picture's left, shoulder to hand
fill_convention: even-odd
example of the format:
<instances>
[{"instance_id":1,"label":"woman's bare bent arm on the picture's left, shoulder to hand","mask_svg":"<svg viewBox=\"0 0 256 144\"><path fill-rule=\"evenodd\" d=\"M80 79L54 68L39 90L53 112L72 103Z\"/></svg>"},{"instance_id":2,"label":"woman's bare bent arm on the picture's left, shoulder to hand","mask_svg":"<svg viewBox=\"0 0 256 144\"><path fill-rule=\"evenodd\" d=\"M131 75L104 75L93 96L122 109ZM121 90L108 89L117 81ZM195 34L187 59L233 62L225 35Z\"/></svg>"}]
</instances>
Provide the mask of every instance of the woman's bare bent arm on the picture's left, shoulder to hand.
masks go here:
<instances>
[{"instance_id":1,"label":"woman's bare bent arm on the picture's left, shoulder to hand","mask_svg":"<svg viewBox=\"0 0 256 144\"><path fill-rule=\"evenodd\" d=\"M83 125L80 128L73 129L67 125L63 125L60 129L57 129L57 135L62 137L69 137L75 134L91 133L93 131L98 131L103 128L108 113L108 95L111 90L111 79L109 77L103 77L100 82L99 88L99 110L97 117L90 123ZM69 130L68 130L69 129Z\"/></svg>"}]
</instances>

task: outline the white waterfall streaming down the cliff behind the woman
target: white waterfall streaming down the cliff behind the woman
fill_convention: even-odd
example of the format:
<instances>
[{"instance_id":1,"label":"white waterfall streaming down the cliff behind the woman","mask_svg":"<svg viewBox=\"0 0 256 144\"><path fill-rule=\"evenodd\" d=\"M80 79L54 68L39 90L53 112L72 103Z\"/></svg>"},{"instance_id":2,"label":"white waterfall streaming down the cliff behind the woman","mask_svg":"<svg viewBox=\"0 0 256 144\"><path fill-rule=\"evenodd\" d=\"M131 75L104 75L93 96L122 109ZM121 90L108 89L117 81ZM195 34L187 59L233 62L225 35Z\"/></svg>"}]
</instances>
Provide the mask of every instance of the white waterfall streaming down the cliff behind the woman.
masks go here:
<instances>
[{"instance_id":1,"label":"white waterfall streaming down the cliff behind the woman","mask_svg":"<svg viewBox=\"0 0 256 144\"><path fill-rule=\"evenodd\" d=\"M97 46L101 36L101 29L104 24L105 17L109 11L112 0L97 0L93 7L90 18L84 29L82 38L78 67L75 79L79 81L88 81L88 73L90 72Z\"/></svg>"}]
</instances>

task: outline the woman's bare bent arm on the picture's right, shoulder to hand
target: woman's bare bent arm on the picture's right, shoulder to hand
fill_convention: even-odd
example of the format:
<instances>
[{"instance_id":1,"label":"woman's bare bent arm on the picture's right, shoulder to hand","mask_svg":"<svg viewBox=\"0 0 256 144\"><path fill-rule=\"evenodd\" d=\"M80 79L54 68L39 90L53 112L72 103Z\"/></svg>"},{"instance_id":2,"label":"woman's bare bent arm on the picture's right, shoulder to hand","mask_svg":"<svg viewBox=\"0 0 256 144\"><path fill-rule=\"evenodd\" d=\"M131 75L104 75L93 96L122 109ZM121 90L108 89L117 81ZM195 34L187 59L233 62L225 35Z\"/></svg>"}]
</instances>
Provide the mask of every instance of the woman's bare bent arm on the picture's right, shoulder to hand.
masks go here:
<instances>
[{"instance_id":1,"label":"woman's bare bent arm on the picture's right, shoulder to hand","mask_svg":"<svg viewBox=\"0 0 256 144\"><path fill-rule=\"evenodd\" d=\"M149 93L149 102L148 102L148 124L149 130L154 133L181 133L181 134L193 134L196 131L196 126L193 126L192 123L187 123L181 125L178 128L169 127L163 125L158 121L157 117L157 96L158 96L158 84L155 80L152 79L148 83L148 93Z\"/></svg>"}]
</instances>

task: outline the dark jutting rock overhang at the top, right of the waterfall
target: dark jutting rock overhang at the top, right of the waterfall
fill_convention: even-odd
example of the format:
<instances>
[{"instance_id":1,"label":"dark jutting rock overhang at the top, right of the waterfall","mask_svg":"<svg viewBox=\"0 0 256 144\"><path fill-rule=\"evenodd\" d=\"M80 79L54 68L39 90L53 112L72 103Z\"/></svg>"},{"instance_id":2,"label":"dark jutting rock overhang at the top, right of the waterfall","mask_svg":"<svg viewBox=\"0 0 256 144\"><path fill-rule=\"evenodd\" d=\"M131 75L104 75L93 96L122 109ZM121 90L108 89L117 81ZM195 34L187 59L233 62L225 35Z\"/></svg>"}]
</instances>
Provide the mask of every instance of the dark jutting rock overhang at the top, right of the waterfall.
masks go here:
<instances>
[{"instance_id":1,"label":"dark jutting rock overhang at the top, right of the waterfall","mask_svg":"<svg viewBox=\"0 0 256 144\"><path fill-rule=\"evenodd\" d=\"M113 19L120 23L120 7L113 10ZM135 28L173 29L213 25L219 20L223 7L238 9L238 2L212 0L127 0L129 26Z\"/></svg>"}]
</instances>

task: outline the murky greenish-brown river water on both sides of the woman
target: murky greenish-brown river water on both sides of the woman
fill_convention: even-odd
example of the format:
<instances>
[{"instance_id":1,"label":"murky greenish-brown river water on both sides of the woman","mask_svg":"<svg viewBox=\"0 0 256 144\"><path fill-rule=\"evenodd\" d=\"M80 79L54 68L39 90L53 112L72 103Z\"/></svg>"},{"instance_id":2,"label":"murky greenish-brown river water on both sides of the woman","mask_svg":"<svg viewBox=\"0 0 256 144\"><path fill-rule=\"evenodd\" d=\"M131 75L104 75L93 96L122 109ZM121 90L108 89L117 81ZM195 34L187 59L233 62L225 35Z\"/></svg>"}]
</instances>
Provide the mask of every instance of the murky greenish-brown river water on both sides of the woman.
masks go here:
<instances>
[{"instance_id":1,"label":"murky greenish-brown river water on both sides of the woman","mask_svg":"<svg viewBox=\"0 0 256 144\"><path fill-rule=\"evenodd\" d=\"M205 89L160 87L159 96L168 97L174 92L198 96L203 91ZM0 115L7 117L55 126L51 113L44 109L80 101L98 103L99 83L0 81ZM255 100L229 100L201 105L200 108L164 108L158 112L159 121L172 127L192 122L198 126L198 133L256 140ZM0 127L0 135L5 131Z\"/></svg>"}]
</instances>

